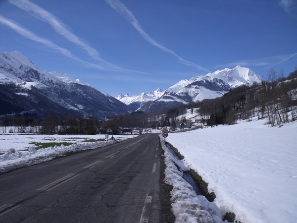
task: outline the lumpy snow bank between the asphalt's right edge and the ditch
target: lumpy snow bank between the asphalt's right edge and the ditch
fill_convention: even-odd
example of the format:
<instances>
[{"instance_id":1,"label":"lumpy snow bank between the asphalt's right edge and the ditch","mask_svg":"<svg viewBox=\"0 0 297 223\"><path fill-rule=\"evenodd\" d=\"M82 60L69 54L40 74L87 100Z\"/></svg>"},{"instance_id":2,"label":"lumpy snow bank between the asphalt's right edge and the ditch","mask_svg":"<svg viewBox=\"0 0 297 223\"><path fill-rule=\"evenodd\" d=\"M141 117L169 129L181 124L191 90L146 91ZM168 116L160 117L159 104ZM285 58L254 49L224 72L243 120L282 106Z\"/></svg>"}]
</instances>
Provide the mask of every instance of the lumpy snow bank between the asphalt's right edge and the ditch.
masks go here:
<instances>
[{"instance_id":1,"label":"lumpy snow bank between the asphalt's right edge and the ditch","mask_svg":"<svg viewBox=\"0 0 297 223\"><path fill-rule=\"evenodd\" d=\"M183 172L189 169L182 161L177 160L161 138L161 146L164 150L165 178L164 182L172 185L171 194L172 212L176 223L221 223L223 212L204 196L198 196L193 187L183 178ZM180 170L176 167L179 167Z\"/></svg>"}]
</instances>

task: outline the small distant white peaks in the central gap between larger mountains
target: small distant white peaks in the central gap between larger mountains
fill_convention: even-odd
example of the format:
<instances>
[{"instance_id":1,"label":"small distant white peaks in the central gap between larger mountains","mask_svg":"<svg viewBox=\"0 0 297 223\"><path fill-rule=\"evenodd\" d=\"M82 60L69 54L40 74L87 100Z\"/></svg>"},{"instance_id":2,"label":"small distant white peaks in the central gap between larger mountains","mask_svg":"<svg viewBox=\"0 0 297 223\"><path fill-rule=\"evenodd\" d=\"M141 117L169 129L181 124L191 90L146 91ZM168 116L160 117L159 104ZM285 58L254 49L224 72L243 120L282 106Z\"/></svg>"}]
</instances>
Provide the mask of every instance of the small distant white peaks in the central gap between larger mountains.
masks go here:
<instances>
[{"instance_id":1,"label":"small distant white peaks in the central gap between larger mountains","mask_svg":"<svg viewBox=\"0 0 297 223\"><path fill-rule=\"evenodd\" d=\"M126 93L125 95L119 94L115 96L115 98L125 103L126 105L129 105L129 107L135 111L140 107L142 107L147 102L151 102L160 98L163 94L164 94L164 91L158 88L155 91L152 91L149 93L141 93L138 96L130 96L128 93Z\"/></svg>"}]
</instances>

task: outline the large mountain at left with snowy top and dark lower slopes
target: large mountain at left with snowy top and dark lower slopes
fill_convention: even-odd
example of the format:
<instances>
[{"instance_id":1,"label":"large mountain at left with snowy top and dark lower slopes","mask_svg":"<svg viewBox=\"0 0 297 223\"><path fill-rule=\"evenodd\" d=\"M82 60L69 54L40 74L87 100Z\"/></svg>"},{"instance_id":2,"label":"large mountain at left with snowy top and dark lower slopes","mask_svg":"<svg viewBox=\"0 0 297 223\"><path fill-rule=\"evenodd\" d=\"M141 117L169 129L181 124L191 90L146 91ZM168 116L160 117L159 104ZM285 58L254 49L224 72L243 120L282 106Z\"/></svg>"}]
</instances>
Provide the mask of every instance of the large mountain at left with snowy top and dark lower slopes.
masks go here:
<instances>
[{"instance_id":1,"label":"large mountain at left with snowy top and dark lower slopes","mask_svg":"<svg viewBox=\"0 0 297 223\"><path fill-rule=\"evenodd\" d=\"M104 118L130 111L124 103L79 79L48 72L17 51L0 55L0 115L44 117L49 112Z\"/></svg>"}]
</instances>

